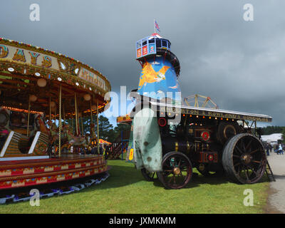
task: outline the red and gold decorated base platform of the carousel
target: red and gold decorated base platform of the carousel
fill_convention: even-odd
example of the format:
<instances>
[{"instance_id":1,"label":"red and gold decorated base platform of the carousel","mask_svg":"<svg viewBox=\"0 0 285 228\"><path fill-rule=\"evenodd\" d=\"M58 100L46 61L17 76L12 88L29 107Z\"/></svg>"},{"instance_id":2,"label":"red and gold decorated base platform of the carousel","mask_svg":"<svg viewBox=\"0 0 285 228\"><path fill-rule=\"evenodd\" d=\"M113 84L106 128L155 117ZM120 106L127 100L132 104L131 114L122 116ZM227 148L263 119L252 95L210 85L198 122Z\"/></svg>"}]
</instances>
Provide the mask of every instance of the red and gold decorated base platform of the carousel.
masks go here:
<instances>
[{"instance_id":1,"label":"red and gold decorated base platform of the carousel","mask_svg":"<svg viewBox=\"0 0 285 228\"><path fill-rule=\"evenodd\" d=\"M20 159L0 160L0 190L76 180L110 170L103 155Z\"/></svg>"}]
</instances>

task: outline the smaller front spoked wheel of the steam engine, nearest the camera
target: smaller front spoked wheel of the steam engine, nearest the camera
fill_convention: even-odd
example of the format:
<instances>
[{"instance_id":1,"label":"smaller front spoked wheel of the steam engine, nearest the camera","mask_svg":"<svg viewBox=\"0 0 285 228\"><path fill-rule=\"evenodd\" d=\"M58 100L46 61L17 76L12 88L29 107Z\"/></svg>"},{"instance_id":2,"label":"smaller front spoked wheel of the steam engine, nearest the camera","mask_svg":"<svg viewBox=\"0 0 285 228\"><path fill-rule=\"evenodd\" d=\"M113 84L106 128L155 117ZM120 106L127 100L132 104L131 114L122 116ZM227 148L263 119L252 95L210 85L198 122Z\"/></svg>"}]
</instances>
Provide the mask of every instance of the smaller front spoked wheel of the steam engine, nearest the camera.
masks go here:
<instances>
[{"instance_id":1,"label":"smaller front spoked wheel of the steam engine, nearest the camera","mask_svg":"<svg viewBox=\"0 0 285 228\"><path fill-rule=\"evenodd\" d=\"M182 152L168 152L163 156L162 172L157 176L167 189L185 187L192 177L192 164Z\"/></svg>"}]
</instances>

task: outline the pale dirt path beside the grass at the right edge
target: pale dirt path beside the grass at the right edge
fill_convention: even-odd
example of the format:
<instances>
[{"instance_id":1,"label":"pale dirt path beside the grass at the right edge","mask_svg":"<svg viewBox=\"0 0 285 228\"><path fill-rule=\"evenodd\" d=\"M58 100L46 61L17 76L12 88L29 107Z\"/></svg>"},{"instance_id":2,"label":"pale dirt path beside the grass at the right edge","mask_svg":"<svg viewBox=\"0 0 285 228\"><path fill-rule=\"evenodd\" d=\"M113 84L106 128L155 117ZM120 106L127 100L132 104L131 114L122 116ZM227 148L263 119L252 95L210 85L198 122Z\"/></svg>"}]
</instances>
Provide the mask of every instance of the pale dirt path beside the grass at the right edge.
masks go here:
<instances>
[{"instance_id":1,"label":"pale dirt path beside the grass at the right edge","mask_svg":"<svg viewBox=\"0 0 285 228\"><path fill-rule=\"evenodd\" d=\"M271 152L267 159L276 182L270 182L269 205L266 212L285 214L285 152L284 155Z\"/></svg>"}]
</instances>

